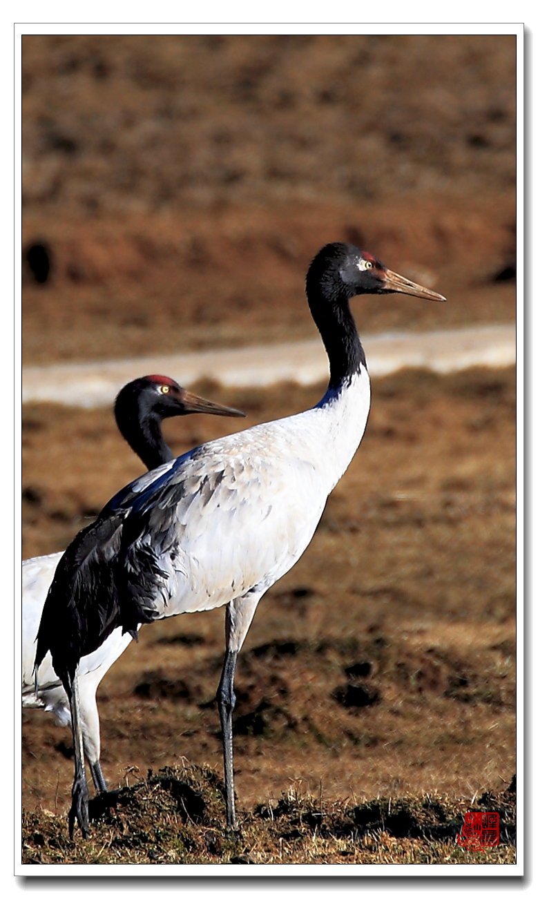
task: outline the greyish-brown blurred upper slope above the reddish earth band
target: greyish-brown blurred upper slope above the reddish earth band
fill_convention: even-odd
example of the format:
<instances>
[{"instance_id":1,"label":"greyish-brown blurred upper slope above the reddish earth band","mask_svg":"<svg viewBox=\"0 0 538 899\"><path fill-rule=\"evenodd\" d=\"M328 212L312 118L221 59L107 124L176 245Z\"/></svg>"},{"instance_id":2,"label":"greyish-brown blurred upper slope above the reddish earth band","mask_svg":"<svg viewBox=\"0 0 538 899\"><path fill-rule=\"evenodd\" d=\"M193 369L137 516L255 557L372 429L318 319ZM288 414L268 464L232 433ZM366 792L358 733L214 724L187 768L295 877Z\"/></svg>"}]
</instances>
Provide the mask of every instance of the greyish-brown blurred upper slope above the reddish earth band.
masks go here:
<instances>
[{"instance_id":1,"label":"greyish-brown blurred upper slope above the reddish earth band","mask_svg":"<svg viewBox=\"0 0 538 899\"><path fill-rule=\"evenodd\" d=\"M28 36L26 208L515 183L513 36Z\"/></svg>"}]
</instances>

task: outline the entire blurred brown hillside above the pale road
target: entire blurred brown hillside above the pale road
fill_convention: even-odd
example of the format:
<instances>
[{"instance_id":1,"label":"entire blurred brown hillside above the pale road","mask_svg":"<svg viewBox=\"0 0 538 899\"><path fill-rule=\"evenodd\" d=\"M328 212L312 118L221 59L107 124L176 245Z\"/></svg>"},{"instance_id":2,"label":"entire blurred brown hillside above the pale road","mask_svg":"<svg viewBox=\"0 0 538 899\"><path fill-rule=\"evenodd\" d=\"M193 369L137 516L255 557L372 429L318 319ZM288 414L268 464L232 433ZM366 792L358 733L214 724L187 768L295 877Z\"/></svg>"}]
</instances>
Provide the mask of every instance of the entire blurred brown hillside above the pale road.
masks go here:
<instances>
[{"instance_id":1,"label":"entire blurred brown hillside above the pale road","mask_svg":"<svg viewBox=\"0 0 538 899\"><path fill-rule=\"evenodd\" d=\"M515 317L513 36L27 36L23 361L313 337L304 275L351 241Z\"/></svg>"}]
</instances>

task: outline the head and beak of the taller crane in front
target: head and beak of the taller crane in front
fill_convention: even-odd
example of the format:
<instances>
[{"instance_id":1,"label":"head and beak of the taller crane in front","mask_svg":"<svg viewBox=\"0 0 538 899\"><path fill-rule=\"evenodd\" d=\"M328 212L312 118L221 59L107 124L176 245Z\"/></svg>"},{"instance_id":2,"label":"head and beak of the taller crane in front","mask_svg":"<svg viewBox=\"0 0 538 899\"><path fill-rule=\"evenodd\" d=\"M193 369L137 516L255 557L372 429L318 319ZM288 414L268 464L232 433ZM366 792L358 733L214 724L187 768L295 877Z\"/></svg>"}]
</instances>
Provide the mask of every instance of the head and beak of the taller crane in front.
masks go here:
<instances>
[{"instance_id":1,"label":"head and beak of the taller crane in front","mask_svg":"<svg viewBox=\"0 0 538 899\"><path fill-rule=\"evenodd\" d=\"M407 293L411 297L445 298L435 290L421 287L414 281L390 271L379 259L359 250L353 244L327 244L312 260L307 274L307 294L310 302L316 298L338 303L362 293Z\"/></svg>"}]
</instances>

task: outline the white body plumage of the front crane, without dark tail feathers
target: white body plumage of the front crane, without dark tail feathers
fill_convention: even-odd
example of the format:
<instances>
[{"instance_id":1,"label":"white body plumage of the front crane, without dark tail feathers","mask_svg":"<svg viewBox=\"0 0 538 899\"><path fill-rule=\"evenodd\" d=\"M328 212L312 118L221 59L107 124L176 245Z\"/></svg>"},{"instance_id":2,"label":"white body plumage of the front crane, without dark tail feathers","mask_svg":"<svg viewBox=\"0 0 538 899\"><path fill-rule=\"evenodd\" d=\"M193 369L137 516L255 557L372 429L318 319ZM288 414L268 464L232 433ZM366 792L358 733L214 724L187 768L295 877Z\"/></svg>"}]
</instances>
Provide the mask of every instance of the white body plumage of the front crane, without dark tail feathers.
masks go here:
<instances>
[{"instance_id":1,"label":"white body plumage of the front crane, without dark tail feathers","mask_svg":"<svg viewBox=\"0 0 538 899\"><path fill-rule=\"evenodd\" d=\"M211 441L135 481L148 510L125 566L150 551L163 576L140 608L154 619L257 599L309 545L370 409L361 365L306 412ZM157 476L158 472L158 476Z\"/></svg>"}]
</instances>

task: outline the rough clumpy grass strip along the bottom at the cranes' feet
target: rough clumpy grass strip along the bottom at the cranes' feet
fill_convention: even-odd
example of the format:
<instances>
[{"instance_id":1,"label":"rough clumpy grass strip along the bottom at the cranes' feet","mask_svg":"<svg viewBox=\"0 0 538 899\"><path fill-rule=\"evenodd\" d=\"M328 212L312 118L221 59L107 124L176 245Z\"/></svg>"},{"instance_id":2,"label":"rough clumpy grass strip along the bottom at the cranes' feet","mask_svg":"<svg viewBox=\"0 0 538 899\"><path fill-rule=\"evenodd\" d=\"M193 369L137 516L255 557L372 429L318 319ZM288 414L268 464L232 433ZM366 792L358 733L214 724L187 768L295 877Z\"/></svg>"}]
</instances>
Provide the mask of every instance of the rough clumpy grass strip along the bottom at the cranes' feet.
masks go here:
<instances>
[{"instance_id":1,"label":"rough clumpy grass strip along the bottom at the cranes' feet","mask_svg":"<svg viewBox=\"0 0 538 899\"><path fill-rule=\"evenodd\" d=\"M471 810L497 811L500 845L462 849L457 834ZM224 788L207 766L164 768L90 803L84 841L67 816L38 810L22 818L22 863L173 864L499 864L516 863L516 780L498 795L376 798L326 803L294 790L238 814L224 828Z\"/></svg>"}]
</instances>

